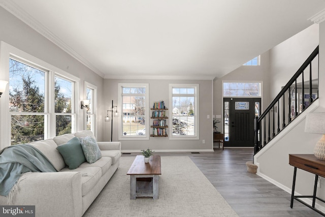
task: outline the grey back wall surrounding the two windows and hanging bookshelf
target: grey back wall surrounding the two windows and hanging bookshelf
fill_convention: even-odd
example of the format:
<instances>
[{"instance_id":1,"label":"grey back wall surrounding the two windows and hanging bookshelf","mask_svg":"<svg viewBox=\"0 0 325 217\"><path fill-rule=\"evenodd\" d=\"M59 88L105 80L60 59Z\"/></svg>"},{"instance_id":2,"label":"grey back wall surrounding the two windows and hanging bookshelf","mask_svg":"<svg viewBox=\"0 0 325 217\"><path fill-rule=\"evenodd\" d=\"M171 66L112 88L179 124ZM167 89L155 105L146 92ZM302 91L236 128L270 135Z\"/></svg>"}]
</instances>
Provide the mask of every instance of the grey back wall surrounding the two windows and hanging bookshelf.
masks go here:
<instances>
[{"instance_id":1,"label":"grey back wall surrounding the two windows and hanging bookshelf","mask_svg":"<svg viewBox=\"0 0 325 217\"><path fill-rule=\"evenodd\" d=\"M105 79L104 80L104 109L109 109L114 100L118 102L118 83L149 83L149 107L154 102L163 100L169 107L169 84L190 83L200 85L200 114L199 114L199 140L170 140L169 137L149 137L149 140L121 140L122 150L141 150L150 147L154 150L212 150L213 124L212 124L212 80L158 80L158 79ZM106 110L107 110L106 109ZM169 108L171 109L171 108ZM150 112L150 111L149 111ZM207 118L210 115L210 118ZM113 141L118 139L118 122L120 118L113 117ZM151 121L151 120L147 120ZM170 126L171 127L171 126ZM104 123L104 139L110 140L111 122ZM150 130L147 132L151 132ZM205 140L205 144L202 143Z\"/></svg>"}]
</instances>

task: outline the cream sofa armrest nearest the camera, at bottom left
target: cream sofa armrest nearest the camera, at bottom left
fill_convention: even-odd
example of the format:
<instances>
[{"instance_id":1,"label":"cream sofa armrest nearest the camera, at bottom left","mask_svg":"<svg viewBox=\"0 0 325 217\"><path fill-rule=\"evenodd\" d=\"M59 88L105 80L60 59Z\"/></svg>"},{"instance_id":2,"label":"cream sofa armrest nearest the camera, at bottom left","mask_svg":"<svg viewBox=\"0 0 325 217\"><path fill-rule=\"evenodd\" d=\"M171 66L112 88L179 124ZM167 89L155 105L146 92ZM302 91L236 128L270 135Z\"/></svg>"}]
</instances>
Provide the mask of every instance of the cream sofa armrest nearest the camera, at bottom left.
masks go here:
<instances>
[{"instance_id":1,"label":"cream sofa armrest nearest the camera, at bottom left","mask_svg":"<svg viewBox=\"0 0 325 217\"><path fill-rule=\"evenodd\" d=\"M20 179L9 204L35 205L36 216L81 216L80 172L32 172Z\"/></svg>"}]
</instances>

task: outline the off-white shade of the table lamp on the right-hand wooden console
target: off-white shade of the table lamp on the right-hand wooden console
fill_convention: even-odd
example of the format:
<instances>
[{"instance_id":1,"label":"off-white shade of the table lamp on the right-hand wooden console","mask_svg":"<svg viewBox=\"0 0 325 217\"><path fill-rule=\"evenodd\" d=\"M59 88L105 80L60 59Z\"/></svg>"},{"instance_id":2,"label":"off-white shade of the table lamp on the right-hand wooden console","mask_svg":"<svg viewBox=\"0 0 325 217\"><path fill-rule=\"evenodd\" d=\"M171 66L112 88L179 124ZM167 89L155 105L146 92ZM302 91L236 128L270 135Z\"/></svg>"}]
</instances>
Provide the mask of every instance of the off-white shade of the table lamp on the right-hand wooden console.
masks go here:
<instances>
[{"instance_id":1,"label":"off-white shade of the table lamp on the right-hand wooden console","mask_svg":"<svg viewBox=\"0 0 325 217\"><path fill-rule=\"evenodd\" d=\"M325 112L308 113L305 122L305 132L325 134Z\"/></svg>"}]
</instances>

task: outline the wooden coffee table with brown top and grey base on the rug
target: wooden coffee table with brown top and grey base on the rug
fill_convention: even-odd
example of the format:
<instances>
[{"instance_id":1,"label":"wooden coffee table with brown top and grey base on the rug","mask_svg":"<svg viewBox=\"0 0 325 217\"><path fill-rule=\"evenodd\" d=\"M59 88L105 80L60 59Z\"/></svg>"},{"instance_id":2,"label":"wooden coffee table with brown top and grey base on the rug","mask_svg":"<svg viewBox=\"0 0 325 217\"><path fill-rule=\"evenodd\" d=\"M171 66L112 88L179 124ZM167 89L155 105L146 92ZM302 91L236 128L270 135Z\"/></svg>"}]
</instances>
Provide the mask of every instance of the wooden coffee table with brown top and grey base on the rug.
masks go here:
<instances>
[{"instance_id":1,"label":"wooden coffee table with brown top and grey base on the rug","mask_svg":"<svg viewBox=\"0 0 325 217\"><path fill-rule=\"evenodd\" d=\"M153 155L149 163L138 155L127 172L130 175L130 197L159 198L159 175L161 175L160 156Z\"/></svg>"}]
</instances>

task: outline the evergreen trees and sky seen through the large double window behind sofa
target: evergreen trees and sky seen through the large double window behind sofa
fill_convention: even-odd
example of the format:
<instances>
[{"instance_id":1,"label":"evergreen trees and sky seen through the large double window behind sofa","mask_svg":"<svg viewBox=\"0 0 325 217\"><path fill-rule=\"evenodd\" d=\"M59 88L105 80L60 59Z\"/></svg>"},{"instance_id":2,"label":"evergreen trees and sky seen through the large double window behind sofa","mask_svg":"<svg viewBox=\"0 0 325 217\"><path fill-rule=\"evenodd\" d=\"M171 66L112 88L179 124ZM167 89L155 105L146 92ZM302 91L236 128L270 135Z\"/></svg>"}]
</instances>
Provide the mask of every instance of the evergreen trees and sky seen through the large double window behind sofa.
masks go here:
<instances>
[{"instance_id":1,"label":"evergreen trees and sky seen through the large double window behind sofa","mask_svg":"<svg viewBox=\"0 0 325 217\"><path fill-rule=\"evenodd\" d=\"M9 111L11 112L11 144L44 139L45 73L10 59ZM71 113L70 99L55 83L55 112ZM71 132L71 115L56 115L56 135Z\"/></svg>"}]
</instances>

